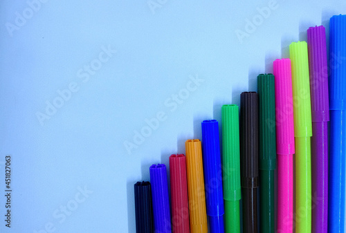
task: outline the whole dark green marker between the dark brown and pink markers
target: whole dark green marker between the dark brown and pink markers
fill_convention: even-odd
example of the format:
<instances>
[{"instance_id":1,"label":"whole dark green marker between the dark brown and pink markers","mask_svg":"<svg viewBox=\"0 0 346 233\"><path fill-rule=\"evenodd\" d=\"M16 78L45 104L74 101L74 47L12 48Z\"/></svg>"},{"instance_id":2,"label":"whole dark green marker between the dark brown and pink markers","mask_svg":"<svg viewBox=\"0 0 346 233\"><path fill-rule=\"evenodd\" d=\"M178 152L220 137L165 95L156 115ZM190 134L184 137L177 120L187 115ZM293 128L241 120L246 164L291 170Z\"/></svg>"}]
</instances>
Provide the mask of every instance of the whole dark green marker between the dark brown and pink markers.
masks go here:
<instances>
[{"instance_id":1,"label":"whole dark green marker between the dark brown and pink markers","mask_svg":"<svg viewBox=\"0 0 346 233\"><path fill-rule=\"evenodd\" d=\"M275 82L274 75L257 76L258 153L260 169L260 232L275 232L274 171L275 146Z\"/></svg>"}]
</instances>

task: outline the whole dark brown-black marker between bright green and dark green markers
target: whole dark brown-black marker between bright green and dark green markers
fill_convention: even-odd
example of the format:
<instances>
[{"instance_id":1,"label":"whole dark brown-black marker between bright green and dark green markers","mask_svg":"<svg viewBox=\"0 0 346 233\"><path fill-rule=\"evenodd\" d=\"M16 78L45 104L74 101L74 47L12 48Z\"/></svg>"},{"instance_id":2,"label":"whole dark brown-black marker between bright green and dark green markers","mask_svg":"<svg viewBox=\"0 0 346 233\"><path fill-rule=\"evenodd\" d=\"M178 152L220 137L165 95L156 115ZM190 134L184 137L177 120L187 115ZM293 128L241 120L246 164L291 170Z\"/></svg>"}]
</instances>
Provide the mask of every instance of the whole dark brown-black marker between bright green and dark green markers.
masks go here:
<instances>
[{"instance_id":1,"label":"whole dark brown-black marker between bright green and dark green markers","mask_svg":"<svg viewBox=\"0 0 346 233\"><path fill-rule=\"evenodd\" d=\"M257 233L258 192L257 93L240 95L240 171L242 180L243 231Z\"/></svg>"}]
</instances>

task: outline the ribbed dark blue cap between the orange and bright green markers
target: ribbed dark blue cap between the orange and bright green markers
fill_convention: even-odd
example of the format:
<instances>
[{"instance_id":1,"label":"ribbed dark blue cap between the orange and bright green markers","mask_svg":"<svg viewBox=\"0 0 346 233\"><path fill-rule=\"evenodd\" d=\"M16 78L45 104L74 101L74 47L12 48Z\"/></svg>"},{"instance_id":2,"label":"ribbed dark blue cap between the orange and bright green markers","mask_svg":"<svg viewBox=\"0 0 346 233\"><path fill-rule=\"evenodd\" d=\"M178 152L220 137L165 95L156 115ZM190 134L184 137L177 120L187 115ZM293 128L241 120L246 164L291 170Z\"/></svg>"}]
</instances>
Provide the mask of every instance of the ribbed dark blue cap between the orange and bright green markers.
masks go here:
<instances>
[{"instance_id":1,"label":"ribbed dark blue cap between the orange and bright green markers","mask_svg":"<svg viewBox=\"0 0 346 233\"><path fill-rule=\"evenodd\" d=\"M208 216L225 213L222 189L219 123L217 120L202 122L203 171L206 185L206 206Z\"/></svg>"}]
</instances>

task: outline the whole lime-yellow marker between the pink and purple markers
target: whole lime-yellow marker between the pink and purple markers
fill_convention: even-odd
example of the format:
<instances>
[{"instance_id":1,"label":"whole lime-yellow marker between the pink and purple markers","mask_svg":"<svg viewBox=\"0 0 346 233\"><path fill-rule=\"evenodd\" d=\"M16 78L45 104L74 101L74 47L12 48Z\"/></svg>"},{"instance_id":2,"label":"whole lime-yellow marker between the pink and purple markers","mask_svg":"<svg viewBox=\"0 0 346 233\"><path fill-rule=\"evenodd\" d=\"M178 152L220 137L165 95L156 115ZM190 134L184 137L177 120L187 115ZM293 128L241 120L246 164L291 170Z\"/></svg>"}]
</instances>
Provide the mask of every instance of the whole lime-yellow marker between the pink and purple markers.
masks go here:
<instances>
[{"instance_id":1,"label":"whole lime-yellow marker between the pink and purple markers","mask_svg":"<svg viewBox=\"0 0 346 233\"><path fill-rule=\"evenodd\" d=\"M295 232L311 232L311 100L307 42L289 46L295 136Z\"/></svg>"}]
</instances>

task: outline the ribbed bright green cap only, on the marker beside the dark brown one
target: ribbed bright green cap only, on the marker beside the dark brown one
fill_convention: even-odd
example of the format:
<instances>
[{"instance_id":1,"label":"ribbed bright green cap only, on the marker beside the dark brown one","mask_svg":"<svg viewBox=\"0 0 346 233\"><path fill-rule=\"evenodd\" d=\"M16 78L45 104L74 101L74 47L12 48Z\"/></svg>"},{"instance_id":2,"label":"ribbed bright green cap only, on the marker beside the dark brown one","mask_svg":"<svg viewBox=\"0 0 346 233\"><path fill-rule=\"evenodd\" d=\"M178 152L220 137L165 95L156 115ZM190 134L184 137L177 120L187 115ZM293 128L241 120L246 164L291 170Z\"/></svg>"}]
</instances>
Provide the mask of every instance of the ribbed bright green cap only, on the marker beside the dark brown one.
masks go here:
<instances>
[{"instance_id":1,"label":"ribbed bright green cap only, on the marker beside the dark brown one","mask_svg":"<svg viewBox=\"0 0 346 233\"><path fill-rule=\"evenodd\" d=\"M239 108L235 104L224 105L221 112L224 199L238 201L242 197L239 161Z\"/></svg>"}]
</instances>

